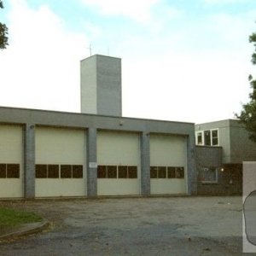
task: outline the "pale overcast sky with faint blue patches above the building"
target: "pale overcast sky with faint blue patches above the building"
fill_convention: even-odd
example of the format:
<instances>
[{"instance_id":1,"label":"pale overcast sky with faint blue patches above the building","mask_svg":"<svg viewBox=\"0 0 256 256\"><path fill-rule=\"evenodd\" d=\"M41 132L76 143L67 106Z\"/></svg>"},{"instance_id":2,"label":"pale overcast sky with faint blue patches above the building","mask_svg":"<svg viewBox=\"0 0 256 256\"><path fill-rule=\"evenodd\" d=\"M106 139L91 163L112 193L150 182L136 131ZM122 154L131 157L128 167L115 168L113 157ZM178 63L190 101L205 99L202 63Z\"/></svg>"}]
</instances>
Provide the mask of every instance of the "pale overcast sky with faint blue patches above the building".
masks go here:
<instances>
[{"instance_id":1,"label":"pale overcast sky with faint blue patches above the building","mask_svg":"<svg viewBox=\"0 0 256 256\"><path fill-rule=\"evenodd\" d=\"M123 116L202 123L247 102L255 0L3 0L0 106L80 112L80 60L122 58Z\"/></svg>"}]
</instances>

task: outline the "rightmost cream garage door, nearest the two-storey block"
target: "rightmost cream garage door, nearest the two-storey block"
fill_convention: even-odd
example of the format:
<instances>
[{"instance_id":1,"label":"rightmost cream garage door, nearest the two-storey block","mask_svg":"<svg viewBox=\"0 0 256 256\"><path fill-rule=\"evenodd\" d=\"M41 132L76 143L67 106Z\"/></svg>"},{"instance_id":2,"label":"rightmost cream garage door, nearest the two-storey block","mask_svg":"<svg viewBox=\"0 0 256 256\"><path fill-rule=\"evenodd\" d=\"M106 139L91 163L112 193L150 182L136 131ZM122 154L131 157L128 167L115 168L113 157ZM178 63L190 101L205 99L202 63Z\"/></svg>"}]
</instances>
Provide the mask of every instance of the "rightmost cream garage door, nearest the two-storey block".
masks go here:
<instances>
[{"instance_id":1,"label":"rightmost cream garage door, nearest the two-storey block","mask_svg":"<svg viewBox=\"0 0 256 256\"><path fill-rule=\"evenodd\" d=\"M151 195L187 193L187 140L150 135Z\"/></svg>"}]
</instances>

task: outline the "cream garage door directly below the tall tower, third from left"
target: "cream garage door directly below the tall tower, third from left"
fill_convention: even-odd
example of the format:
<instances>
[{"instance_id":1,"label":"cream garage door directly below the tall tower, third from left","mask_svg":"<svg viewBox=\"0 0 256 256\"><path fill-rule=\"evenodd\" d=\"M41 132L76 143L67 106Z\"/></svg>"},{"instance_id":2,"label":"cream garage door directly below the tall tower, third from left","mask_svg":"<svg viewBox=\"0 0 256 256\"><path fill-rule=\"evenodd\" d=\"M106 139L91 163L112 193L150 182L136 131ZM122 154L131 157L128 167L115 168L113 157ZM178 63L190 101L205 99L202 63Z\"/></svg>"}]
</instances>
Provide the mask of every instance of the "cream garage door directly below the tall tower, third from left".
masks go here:
<instances>
[{"instance_id":1,"label":"cream garage door directly below the tall tower, third from left","mask_svg":"<svg viewBox=\"0 0 256 256\"><path fill-rule=\"evenodd\" d=\"M139 195L139 155L137 134L98 131L97 195Z\"/></svg>"}]
</instances>

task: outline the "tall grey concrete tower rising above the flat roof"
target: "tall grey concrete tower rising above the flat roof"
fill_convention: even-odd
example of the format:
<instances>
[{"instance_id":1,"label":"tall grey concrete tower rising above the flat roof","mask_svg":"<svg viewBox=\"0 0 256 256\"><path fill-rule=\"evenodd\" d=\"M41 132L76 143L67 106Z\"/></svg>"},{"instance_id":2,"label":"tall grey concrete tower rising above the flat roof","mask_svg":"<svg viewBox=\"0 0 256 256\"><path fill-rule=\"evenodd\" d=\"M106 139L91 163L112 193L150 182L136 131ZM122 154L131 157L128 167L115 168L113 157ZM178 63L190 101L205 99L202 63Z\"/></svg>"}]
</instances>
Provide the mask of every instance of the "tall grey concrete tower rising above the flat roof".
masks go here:
<instances>
[{"instance_id":1,"label":"tall grey concrete tower rising above the flat roof","mask_svg":"<svg viewBox=\"0 0 256 256\"><path fill-rule=\"evenodd\" d=\"M122 116L121 59L93 55L80 63L81 112Z\"/></svg>"}]
</instances>

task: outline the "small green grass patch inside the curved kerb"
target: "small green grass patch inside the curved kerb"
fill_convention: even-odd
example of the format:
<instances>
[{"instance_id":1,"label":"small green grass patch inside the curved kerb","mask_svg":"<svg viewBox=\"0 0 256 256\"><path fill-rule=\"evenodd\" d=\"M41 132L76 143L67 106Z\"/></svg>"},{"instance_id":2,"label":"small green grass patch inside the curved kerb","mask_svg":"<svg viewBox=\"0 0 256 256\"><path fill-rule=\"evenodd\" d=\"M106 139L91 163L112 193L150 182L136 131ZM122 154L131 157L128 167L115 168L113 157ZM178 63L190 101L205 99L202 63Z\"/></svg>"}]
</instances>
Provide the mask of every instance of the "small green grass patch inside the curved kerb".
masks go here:
<instances>
[{"instance_id":1,"label":"small green grass patch inside the curved kerb","mask_svg":"<svg viewBox=\"0 0 256 256\"><path fill-rule=\"evenodd\" d=\"M39 222L42 218L32 212L0 207L0 227L15 227L20 224Z\"/></svg>"}]
</instances>

